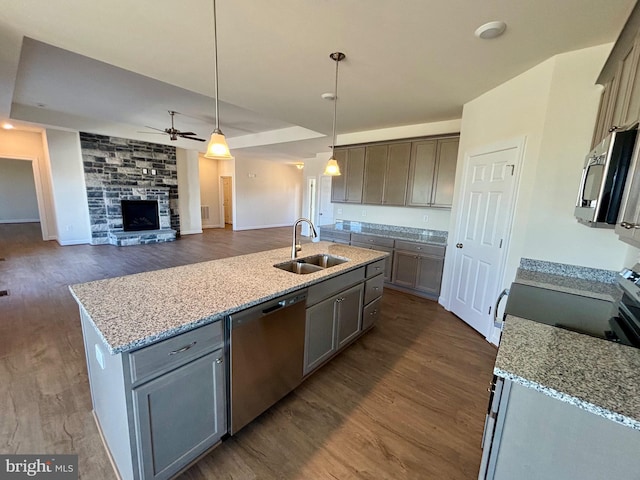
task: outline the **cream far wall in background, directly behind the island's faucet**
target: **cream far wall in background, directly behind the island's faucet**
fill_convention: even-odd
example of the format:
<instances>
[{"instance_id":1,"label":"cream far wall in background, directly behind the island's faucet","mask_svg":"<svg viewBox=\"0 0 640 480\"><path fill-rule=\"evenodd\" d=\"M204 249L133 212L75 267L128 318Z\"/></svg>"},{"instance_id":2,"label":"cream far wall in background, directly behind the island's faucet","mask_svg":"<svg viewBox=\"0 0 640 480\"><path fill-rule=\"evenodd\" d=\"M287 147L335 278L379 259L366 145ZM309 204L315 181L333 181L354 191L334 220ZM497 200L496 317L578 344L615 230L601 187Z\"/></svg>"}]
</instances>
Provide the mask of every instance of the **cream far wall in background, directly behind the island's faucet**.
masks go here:
<instances>
[{"instance_id":1,"label":"cream far wall in background, directly behind the island's faucet","mask_svg":"<svg viewBox=\"0 0 640 480\"><path fill-rule=\"evenodd\" d=\"M302 205L302 170L295 165L236 159L234 230L292 225Z\"/></svg>"}]
</instances>

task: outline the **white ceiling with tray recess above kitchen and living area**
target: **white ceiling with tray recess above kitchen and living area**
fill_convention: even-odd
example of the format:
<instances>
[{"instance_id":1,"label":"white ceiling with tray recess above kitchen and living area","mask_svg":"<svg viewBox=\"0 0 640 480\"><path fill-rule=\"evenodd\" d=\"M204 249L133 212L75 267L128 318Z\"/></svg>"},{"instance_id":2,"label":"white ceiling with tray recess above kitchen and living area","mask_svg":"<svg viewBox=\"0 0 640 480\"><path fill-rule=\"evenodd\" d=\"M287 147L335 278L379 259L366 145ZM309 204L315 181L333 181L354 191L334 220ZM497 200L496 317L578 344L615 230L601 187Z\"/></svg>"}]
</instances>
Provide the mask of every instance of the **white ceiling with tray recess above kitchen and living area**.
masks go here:
<instances>
[{"instance_id":1,"label":"white ceiling with tray recess above kitchen and living area","mask_svg":"<svg viewBox=\"0 0 640 480\"><path fill-rule=\"evenodd\" d=\"M220 123L233 153L326 151L339 133L459 118L541 61L615 41L634 0L217 0ZM473 35L504 20L497 39ZM121 134L213 123L211 0L4 0L0 120ZM27 37L27 38L25 38ZM167 140L168 141L168 140ZM180 140L185 148L204 144ZM234 148L235 147L235 148Z\"/></svg>"}]
</instances>

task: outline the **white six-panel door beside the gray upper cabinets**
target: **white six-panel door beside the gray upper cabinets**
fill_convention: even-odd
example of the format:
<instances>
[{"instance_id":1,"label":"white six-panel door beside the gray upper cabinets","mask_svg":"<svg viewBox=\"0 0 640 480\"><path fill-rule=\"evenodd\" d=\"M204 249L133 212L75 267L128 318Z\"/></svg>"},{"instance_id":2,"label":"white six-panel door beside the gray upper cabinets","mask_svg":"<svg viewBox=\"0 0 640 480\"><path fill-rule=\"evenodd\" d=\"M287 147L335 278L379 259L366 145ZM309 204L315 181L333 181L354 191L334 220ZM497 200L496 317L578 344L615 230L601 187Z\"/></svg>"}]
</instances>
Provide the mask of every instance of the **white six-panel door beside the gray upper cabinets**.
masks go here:
<instances>
[{"instance_id":1,"label":"white six-panel door beside the gray upper cabinets","mask_svg":"<svg viewBox=\"0 0 640 480\"><path fill-rule=\"evenodd\" d=\"M474 153L458 213L450 309L485 337L504 271L522 142Z\"/></svg>"}]
</instances>

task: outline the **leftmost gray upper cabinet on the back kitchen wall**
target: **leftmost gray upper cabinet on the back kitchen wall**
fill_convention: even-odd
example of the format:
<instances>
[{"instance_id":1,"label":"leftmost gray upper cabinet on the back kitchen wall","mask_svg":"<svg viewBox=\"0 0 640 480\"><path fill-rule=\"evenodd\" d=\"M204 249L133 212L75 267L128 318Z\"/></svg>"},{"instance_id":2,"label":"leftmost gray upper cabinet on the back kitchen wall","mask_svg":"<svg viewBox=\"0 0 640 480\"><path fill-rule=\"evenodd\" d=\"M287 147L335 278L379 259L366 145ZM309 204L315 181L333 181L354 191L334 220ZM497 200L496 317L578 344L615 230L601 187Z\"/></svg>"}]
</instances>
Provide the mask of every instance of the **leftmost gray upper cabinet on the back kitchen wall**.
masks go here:
<instances>
[{"instance_id":1,"label":"leftmost gray upper cabinet on the back kitchen wall","mask_svg":"<svg viewBox=\"0 0 640 480\"><path fill-rule=\"evenodd\" d=\"M331 179L333 203L362 203L364 147L336 149L341 175Z\"/></svg>"}]
</instances>

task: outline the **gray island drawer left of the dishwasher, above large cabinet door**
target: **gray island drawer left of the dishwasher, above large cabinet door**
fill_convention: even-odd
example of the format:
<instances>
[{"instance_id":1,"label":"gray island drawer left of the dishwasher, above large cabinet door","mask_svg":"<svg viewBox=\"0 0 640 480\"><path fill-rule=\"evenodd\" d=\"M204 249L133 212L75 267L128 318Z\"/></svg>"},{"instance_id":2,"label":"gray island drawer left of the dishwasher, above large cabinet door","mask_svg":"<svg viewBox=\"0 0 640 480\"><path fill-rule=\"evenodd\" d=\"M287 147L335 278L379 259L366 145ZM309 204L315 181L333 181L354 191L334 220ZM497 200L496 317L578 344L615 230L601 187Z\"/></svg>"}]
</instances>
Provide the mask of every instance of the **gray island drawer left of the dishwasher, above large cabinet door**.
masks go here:
<instances>
[{"instance_id":1,"label":"gray island drawer left of the dishwasher, above large cabinet door","mask_svg":"<svg viewBox=\"0 0 640 480\"><path fill-rule=\"evenodd\" d=\"M131 383L172 370L223 344L222 321L217 321L136 350L129 355Z\"/></svg>"}]
</instances>

